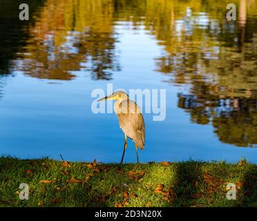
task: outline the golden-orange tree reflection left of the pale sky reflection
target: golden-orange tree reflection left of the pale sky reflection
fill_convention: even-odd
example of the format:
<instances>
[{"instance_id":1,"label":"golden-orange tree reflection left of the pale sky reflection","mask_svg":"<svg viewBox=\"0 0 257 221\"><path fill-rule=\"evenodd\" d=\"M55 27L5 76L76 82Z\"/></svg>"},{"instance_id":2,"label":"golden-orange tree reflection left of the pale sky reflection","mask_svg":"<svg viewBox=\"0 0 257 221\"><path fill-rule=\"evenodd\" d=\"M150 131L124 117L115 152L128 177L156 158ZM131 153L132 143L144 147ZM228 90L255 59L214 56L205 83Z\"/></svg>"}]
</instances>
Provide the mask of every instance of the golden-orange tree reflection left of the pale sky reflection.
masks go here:
<instances>
[{"instance_id":1,"label":"golden-orange tree reflection left of the pale sky reflection","mask_svg":"<svg viewBox=\"0 0 257 221\"><path fill-rule=\"evenodd\" d=\"M120 70L112 26L113 2L48 0L29 29L19 69L32 77L70 80L89 70L94 79L110 79Z\"/></svg>"}]
</instances>

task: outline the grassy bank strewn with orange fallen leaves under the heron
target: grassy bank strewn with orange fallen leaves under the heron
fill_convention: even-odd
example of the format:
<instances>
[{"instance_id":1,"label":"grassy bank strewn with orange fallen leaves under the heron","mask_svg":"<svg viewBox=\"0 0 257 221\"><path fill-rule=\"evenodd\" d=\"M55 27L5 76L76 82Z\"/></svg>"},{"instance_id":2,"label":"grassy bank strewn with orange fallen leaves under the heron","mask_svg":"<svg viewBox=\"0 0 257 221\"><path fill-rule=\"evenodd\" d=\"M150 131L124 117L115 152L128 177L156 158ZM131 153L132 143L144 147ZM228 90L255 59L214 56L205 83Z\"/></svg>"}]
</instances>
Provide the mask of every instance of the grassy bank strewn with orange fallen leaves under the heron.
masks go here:
<instances>
[{"instance_id":1,"label":"grassy bank strewn with orange fallen leaves under the heron","mask_svg":"<svg viewBox=\"0 0 257 221\"><path fill-rule=\"evenodd\" d=\"M19 185L29 199L19 200ZM227 183L236 200L227 200ZM257 206L257 165L140 164L0 158L0 206Z\"/></svg>"}]
</instances>

